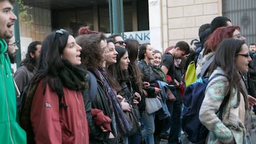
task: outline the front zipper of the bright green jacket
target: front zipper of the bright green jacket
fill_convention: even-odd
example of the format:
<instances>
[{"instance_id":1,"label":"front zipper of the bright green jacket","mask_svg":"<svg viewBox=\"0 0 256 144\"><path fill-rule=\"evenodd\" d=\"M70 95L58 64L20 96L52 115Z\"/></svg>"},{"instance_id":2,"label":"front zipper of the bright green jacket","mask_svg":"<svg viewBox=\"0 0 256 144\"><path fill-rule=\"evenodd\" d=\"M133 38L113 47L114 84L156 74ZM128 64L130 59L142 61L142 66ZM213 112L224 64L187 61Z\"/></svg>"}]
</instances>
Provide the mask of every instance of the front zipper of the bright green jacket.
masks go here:
<instances>
[{"instance_id":1,"label":"front zipper of the bright green jacket","mask_svg":"<svg viewBox=\"0 0 256 144\"><path fill-rule=\"evenodd\" d=\"M6 109L7 109L7 119L8 119L8 124L9 124L9 134L10 134L11 142L14 144L14 140L12 138L12 132L11 132L11 120L10 120L9 106L8 106L8 100L7 100L6 80L4 78L4 65L3 64L1 64L1 71L2 71L2 80L4 80L4 83L3 83L4 84L4 96L5 96L5 99L6 99Z\"/></svg>"}]
</instances>

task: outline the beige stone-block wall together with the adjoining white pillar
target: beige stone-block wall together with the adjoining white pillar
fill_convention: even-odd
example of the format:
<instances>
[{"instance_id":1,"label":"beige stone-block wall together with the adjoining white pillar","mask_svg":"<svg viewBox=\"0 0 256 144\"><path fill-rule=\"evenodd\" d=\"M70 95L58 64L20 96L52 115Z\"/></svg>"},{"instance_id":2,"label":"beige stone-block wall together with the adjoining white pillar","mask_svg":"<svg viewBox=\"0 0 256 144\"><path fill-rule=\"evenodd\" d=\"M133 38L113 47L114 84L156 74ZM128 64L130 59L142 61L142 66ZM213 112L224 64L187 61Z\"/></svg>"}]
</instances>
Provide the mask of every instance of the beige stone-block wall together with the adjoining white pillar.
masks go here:
<instances>
[{"instance_id":1,"label":"beige stone-block wall together with the adjoining white pillar","mask_svg":"<svg viewBox=\"0 0 256 144\"><path fill-rule=\"evenodd\" d=\"M221 0L148 0L150 43L160 51L198 39L198 28L221 15Z\"/></svg>"}]
</instances>

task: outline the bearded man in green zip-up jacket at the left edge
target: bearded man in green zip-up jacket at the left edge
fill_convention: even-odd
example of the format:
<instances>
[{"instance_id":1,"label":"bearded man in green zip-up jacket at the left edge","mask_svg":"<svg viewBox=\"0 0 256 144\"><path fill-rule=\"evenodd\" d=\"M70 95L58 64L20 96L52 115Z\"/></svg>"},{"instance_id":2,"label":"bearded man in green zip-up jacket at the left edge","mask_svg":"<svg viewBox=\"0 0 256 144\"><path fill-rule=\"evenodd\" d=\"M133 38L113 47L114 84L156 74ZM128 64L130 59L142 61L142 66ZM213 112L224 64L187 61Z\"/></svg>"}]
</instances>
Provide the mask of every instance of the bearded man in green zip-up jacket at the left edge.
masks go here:
<instances>
[{"instance_id":1,"label":"bearded man in green zip-up jacket at the left edge","mask_svg":"<svg viewBox=\"0 0 256 144\"><path fill-rule=\"evenodd\" d=\"M13 36L14 0L0 1L0 143L27 143L26 133L17 123L16 95L11 62L4 39Z\"/></svg>"}]
</instances>

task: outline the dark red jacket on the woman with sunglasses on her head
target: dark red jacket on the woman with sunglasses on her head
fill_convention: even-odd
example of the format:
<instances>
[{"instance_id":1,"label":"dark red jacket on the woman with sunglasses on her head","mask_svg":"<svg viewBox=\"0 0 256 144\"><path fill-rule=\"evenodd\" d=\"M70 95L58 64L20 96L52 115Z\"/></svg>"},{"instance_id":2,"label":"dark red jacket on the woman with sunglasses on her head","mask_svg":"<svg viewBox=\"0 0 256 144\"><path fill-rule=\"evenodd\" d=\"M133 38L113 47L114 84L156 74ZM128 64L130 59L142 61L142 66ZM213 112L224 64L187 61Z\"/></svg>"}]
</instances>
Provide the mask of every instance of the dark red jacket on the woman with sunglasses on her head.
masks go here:
<instances>
[{"instance_id":1,"label":"dark red jacket on the woman with sunglasses on her head","mask_svg":"<svg viewBox=\"0 0 256 144\"><path fill-rule=\"evenodd\" d=\"M49 85L46 85L43 95L43 80L35 91L30 119L37 144L89 143L82 93L65 87L63 91L61 102L67 108L59 108L58 95L49 88Z\"/></svg>"}]
</instances>

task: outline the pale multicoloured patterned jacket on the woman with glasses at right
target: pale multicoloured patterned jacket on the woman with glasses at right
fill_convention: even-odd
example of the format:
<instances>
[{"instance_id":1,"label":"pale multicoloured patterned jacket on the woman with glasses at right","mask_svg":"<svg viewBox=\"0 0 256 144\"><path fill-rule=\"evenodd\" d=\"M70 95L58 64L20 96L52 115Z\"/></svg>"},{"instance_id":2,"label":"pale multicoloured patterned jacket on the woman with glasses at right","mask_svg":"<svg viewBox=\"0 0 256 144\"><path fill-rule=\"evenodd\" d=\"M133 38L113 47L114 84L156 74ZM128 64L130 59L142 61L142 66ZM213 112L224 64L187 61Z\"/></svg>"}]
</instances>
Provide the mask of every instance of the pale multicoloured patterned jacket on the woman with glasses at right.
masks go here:
<instances>
[{"instance_id":1,"label":"pale multicoloured patterned jacket on the woman with glasses at right","mask_svg":"<svg viewBox=\"0 0 256 144\"><path fill-rule=\"evenodd\" d=\"M224 74L223 70L218 67L211 77L215 74ZM228 91L228 79L224 75L217 76L208 83L205 90L205 98L203 100L199 119L210 132L206 143L239 143L246 144L245 121L245 103L241 93L241 101L237 108L237 90L233 89L228 102L223 108L223 121L218 118L218 109L221 106L224 96Z\"/></svg>"}]
</instances>

